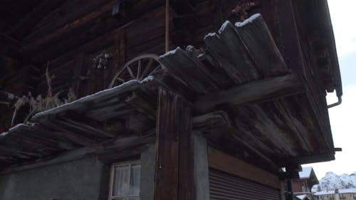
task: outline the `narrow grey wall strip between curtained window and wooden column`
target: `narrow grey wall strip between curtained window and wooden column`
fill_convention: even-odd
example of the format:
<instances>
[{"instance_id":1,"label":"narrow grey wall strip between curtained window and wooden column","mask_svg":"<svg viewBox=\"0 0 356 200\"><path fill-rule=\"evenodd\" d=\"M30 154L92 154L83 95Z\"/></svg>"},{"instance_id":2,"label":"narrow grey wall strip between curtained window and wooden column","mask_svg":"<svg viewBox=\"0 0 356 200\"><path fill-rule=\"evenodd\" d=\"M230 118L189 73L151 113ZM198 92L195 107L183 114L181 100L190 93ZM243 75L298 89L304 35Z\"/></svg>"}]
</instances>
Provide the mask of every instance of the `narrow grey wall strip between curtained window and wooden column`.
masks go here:
<instances>
[{"instance_id":1,"label":"narrow grey wall strip between curtained window and wooden column","mask_svg":"<svg viewBox=\"0 0 356 200\"><path fill-rule=\"evenodd\" d=\"M155 167L156 148L155 144L141 154L141 186L140 199L153 200L155 195Z\"/></svg>"}]
</instances>

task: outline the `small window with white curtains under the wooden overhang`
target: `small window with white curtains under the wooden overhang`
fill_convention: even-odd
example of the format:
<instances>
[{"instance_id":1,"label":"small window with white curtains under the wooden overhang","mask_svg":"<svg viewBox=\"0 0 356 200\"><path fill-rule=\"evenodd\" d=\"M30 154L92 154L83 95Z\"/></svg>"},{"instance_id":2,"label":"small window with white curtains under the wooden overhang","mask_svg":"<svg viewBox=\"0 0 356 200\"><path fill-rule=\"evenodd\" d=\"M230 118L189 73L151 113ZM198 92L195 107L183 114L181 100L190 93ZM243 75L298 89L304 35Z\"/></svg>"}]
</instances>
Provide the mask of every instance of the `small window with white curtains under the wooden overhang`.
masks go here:
<instances>
[{"instance_id":1,"label":"small window with white curtains under the wooden overhang","mask_svg":"<svg viewBox=\"0 0 356 200\"><path fill-rule=\"evenodd\" d=\"M109 199L139 200L140 173L139 162L112 164Z\"/></svg>"}]
</instances>

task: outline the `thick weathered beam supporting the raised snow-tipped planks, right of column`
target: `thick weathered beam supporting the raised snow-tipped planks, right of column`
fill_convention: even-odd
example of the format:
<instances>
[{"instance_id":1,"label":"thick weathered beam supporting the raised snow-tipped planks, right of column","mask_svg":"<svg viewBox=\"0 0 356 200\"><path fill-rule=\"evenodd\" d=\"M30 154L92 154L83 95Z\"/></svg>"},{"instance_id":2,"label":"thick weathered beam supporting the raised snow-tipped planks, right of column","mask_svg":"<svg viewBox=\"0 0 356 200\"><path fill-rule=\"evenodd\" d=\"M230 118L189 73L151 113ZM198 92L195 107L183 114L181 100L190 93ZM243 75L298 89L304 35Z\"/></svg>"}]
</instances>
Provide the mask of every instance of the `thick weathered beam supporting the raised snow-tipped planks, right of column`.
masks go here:
<instances>
[{"instance_id":1,"label":"thick weathered beam supporting the raised snow-tipped planks, right of column","mask_svg":"<svg viewBox=\"0 0 356 200\"><path fill-rule=\"evenodd\" d=\"M194 111L199 113L209 112L216 105L222 104L236 106L251 102L263 102L303 93L304 90L303 81L299 75L276 76L203 96L194 102Z\"/></svg>"}]
</instances>

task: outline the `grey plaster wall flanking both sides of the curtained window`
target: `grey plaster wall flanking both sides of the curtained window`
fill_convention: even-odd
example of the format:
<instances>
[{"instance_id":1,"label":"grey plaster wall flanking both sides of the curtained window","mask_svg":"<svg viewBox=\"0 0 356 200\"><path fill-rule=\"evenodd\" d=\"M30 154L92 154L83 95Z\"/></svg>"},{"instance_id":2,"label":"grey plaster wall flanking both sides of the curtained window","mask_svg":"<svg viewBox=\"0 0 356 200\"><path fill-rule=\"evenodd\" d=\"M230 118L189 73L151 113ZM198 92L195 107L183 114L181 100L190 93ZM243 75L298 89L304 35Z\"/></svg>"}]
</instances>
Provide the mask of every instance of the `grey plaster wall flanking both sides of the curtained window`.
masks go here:
<instances>
[{"instance_id":1,"label":"grey plaster wall flanking both sides of the curtained window","mask_svg":"<svg viewBox=\"0 0 356 200\"><path fill-rule=\"evenodd\" d=\"M140 156L140 199L154 198L155 159L152 144ZM9 169L0 172L0 200L108 199L110 166L100 162L93 149L83 148L48 162Z\"/></svg>"}]
</instances>

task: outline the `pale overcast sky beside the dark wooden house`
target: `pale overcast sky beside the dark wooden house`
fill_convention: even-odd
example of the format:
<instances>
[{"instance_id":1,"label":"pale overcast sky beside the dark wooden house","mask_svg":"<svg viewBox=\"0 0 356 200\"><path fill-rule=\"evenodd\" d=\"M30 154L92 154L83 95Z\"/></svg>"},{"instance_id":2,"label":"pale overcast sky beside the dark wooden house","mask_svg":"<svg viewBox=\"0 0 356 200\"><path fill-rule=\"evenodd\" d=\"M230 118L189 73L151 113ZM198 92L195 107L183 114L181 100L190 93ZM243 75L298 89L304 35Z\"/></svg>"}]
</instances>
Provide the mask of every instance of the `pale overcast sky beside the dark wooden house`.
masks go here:
<instances>
[{"instance_id":1,"label":"pale overcast sky beside the dark wooden house","mask_svg":"<svg viewBox=\"0 0 356 200\"><path fill-rule=\"evenodd\" d=\"M342 3L342 4L341 4ZM356 22L355 0L328 0L335 34L337 56L342 78L342 104L329 109L330 125L336 152L335 161L305 164L311 166L318 179L327 172L351 174L356 172ZM337 102L335 94L328 93L328 103Z\"/></svg>"}]
</instances>

